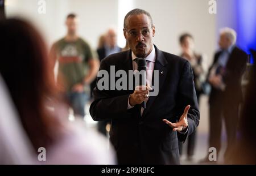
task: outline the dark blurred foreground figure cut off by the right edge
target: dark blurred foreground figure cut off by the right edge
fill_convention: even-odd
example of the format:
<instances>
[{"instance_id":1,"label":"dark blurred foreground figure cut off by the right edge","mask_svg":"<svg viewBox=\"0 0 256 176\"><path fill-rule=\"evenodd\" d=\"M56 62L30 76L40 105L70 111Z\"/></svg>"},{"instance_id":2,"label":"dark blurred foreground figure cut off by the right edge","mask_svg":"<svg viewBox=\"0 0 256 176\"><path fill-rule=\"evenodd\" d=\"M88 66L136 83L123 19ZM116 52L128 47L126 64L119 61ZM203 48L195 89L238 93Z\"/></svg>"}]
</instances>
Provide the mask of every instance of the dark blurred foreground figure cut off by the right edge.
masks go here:
<instances>
[{"instance_id":1,"label":"dark blurred foreground figure cut off by the right edge","mask_svg":"<svg viewBox=\"0 0 256 176\"><path fill-rule=\"evenodd\" d=\"M255 51L254 51L255 52ZM256 53L254 53L254 59ZM237 145L234 146L232 156L227 164L256 164L256 65L250 74L249 84L245 92L245 101L242 105L242 112L239 121L240 135Z\"/></svg>"}]
</instances>

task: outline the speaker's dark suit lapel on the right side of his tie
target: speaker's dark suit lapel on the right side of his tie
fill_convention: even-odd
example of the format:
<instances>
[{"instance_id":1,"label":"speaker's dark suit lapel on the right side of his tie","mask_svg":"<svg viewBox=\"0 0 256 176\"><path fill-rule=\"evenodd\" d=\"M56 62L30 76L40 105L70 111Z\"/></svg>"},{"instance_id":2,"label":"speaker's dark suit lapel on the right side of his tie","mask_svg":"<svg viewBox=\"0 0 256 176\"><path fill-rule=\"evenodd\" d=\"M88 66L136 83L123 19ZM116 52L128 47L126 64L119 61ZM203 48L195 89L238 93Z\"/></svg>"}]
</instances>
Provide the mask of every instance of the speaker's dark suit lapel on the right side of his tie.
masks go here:
<instances>
[{"instance_id":1,"label":"speaker's dark suit lapel on the right side of his tie","mask_svg":"<svg viewBox=\"0 0 256 176\"><path fill-rule=\"evenodd\" d=\"M167 68L165 67L167 65L167 61L163 55L163 52L160 51L158 48L156 48L156 46L155 46L155 50L156 50L156 61L155 61L155 66L154 66L154 72L155 71L159 72L159 74L158 74L159 88L158 89L160 92L161 88L163 87L164 80L166 80L166 76L167 76L167 72L168 72ZM154 78L155 78L155 74L153 73L152 85L154 85L154 87L156 87ZM144 117L144 115L147 114L148 110L151 108L152 104L154 103L155 98L156 98L156 96L152 96L152 97L148 98L148 101L146 104L146 109L144 109L142 117Z\"/></svg>"}]
</instances>

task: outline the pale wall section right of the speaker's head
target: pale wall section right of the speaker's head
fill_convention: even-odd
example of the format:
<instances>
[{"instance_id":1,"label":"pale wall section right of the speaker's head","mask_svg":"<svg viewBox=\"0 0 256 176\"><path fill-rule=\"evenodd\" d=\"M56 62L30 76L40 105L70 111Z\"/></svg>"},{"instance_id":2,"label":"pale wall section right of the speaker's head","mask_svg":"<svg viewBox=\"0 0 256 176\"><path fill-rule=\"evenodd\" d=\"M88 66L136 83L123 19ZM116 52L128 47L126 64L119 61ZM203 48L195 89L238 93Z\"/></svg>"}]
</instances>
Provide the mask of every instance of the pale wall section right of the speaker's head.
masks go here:
<instances>
[{"instance_id":1,"label":"pale wall section right of the speaker's head","mask_svg":"<svg viewBox=\"0 0 256 176\"><path fill-rule=\"evenodd\" d=\"M205 0L140 0L136 8L150 12L156 28L155 44L162 50L179 54L179 35L191 33L196 49L212 58L215 46L216 15L209 14Z\"/></svg>"}]
</instances>

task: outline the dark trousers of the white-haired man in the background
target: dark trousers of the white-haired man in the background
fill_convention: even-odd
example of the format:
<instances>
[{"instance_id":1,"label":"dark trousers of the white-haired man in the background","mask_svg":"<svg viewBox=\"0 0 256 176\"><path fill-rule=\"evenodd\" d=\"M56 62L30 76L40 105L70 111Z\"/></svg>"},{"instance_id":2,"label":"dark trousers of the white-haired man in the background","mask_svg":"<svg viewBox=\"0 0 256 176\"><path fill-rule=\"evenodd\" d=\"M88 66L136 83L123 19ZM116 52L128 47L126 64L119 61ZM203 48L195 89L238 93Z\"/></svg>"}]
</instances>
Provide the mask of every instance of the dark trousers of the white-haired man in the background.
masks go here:
<instances>
[{"instance_id":1,"label":"dark trousers of the white-haired man in the background","mask_svg":"<svg viewBox=\"0 0 256 176\"><path fill-rule=\"evenodd\" d=\"M225 160L230 157L232 147L236 144L236 132L238 123L238 108L239 102L234 100L225 102L224 100L217 100L210 102L210 135L209 135L209 147L215 147L217 154L221 149L221 127L222 119L224 119L227 136L227 148L225 151Z\"/></svg>"}]
</instances>

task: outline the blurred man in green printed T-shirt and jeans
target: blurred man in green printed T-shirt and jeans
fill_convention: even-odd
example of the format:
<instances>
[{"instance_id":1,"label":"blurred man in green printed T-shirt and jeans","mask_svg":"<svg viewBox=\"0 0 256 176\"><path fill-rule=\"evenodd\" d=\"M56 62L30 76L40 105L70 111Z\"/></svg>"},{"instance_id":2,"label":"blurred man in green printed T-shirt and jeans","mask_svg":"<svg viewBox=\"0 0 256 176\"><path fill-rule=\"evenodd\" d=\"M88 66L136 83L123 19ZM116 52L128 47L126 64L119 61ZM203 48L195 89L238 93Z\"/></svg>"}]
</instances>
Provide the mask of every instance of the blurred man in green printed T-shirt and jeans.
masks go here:
<instances>
[{"instance_id":1,"label":"blurred man in green printed T-shirt and jeans","mask_svg":"<svg viewBox=\"0 0 256 176\"><path fill-rule=\"evenodd\" d=\"M84 118L85 104L90 97L90 83L96 78L99 62L89 44L77 34L79 19L69 14L67 35L53 44L50 56L53 66L59 62L57 84L67 95L75 116Z\"/></svg>"}]
</instances>

